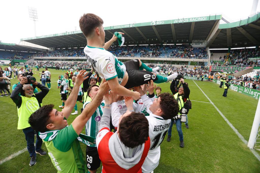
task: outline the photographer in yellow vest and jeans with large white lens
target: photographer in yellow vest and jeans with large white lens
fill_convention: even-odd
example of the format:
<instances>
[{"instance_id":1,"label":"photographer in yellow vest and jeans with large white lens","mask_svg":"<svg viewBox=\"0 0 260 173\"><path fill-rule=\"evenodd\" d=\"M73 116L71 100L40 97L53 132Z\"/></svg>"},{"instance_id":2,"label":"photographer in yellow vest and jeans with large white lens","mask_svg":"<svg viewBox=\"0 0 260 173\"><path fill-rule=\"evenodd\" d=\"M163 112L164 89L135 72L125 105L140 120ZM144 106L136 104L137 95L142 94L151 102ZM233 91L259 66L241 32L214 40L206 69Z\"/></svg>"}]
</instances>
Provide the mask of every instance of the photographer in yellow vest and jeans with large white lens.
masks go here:
<instances>
[{"instance_id":1,"label":"photographer in yellow vest and jeans with large white lens","mask_svg":"<svg viewBox=\"0 0 260 173\"><path fill-rule=\"evenodd\" d=\"M179 82L180 82L180 84L179 84ZM187 119L186 115L189 112L190 105L188 104L189 101L187 101L187 99L189 98L189 95L190 95L190 89L188 87L188 84L184 82L182 74L178 74L177 78L172 81L170 89L171 89L174 99L176 99L178 101L179 113L177 116L173 117L173 119L171 120L171 125L168 130L167 141L168 142L171 141L172 126L173 126L173 121L175 120L176 128L177 128L177 131L179 134L179 139L180 139L180 147L184 147L183 133L181 130L181 122L186 122L186 119ZM188 123L186 124L186 128L189 128Z\"/></svg>"}]
</instances>

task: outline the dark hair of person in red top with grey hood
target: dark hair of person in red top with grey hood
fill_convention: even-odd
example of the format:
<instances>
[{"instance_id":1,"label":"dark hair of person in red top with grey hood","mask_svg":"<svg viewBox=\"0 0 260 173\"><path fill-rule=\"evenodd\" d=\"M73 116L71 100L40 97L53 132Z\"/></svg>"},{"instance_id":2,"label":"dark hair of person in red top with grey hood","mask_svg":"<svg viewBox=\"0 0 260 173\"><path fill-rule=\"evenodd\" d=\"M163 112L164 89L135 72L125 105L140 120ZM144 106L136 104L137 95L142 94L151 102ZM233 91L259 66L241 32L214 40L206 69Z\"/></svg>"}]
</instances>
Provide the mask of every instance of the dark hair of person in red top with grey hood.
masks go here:
<instances>
[{"instance_id":1,"label":"dark hair of person in red top with grey hood","mask_svg":"<svg viewBox=\"0 0 260 173\"><path fill-rule=\"evenodd\" d=\"M142 113L131 112L121 119L118 133L125 146L129 148L139 146L148 140L148 120Z\"/></svg>"}]
</instances>

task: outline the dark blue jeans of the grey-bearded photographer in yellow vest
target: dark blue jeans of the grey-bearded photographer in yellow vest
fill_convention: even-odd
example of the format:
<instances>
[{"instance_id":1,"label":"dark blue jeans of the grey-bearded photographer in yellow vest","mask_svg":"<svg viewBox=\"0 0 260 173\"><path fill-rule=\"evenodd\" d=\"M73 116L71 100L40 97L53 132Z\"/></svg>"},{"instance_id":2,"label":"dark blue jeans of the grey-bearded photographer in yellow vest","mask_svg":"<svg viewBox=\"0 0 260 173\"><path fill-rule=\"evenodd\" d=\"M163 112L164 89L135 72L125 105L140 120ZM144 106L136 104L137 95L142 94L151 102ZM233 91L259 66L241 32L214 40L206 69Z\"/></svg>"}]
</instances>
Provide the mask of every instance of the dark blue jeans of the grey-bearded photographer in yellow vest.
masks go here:
<instances>
[{"instance_id":1,"label":"dark blue jeans of the grey-bearded photographer in yellow vest","mask_svg":"<svg viewBox=\"0 0 260 173\"><path fill-rule=\"evenodd\" d=\"M23 129L23 133L25 135L25 140L27 142L27 150L30 154L30 157L36 156L35 151L39 151L42 148L42 139L40 136L36 135L36 144L34 147L34 130L31 127L27 127Z\"/></svg>"}]
</instances>

